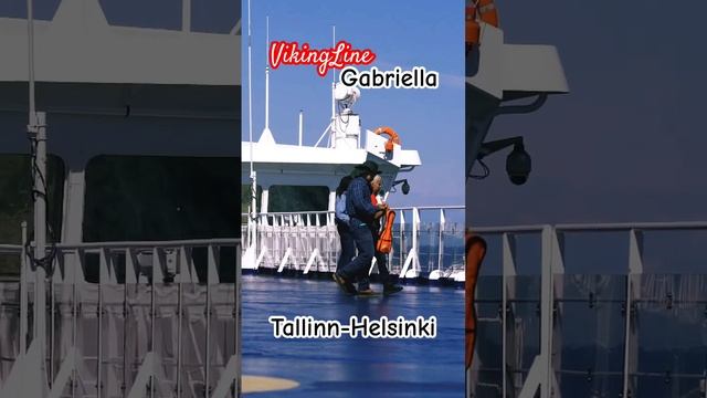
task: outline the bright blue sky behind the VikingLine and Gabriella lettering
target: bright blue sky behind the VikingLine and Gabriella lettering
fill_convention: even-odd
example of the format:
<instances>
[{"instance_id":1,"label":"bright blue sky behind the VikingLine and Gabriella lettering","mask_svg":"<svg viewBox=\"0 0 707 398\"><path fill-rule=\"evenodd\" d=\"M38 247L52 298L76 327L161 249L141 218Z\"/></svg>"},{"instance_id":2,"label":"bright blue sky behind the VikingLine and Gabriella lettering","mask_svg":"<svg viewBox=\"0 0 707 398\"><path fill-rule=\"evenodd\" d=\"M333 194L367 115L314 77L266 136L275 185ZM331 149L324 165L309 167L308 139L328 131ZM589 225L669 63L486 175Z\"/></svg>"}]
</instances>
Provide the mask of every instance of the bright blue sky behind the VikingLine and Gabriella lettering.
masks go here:
<instances>
[{"instance_id":1,"label":"bright blue sky behind the VikingLine and Gabriella lettering","mask_svg":"<svg viewBox=\"0 0 707 398\"><path fill-rule=\"evenodd\" d=\"M423 166L407 175L409 196L394 206L464 203L464 57L463 1L252 1L253 136L264 127L264 69L270 40L307 42L313 49L338 40L377 54L370 66L403 70L425 66L441 75L437 90L362 90L355 111L363 128L391 126L403 148L418 149ZM247 43L247 1L243 1L243 34ZM247 45L243 46L243 132L247 140ZM359 67L368 70L370 66ZM338 78L338 73L337 73ZM305 114L306 145L314 145L329 123L331 72L325 78L315 66L283 65L271 71L270 127L282 144L296 144L299 109ZM393 198L391 197L391 201Z\"/></svg>"}]
</instances>

